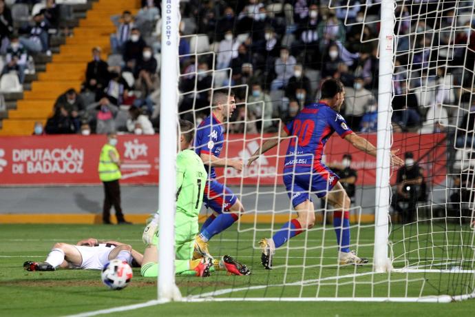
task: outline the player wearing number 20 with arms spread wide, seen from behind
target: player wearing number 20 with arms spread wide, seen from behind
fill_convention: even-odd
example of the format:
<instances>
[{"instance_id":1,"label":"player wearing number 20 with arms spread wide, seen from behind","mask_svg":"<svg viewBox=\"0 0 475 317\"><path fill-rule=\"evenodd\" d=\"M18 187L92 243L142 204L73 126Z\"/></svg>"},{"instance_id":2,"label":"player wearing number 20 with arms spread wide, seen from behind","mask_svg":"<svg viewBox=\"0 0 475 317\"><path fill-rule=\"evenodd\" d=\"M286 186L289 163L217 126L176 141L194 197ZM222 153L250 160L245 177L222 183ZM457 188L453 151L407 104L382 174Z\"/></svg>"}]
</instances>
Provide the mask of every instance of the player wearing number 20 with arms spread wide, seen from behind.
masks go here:
<instances>
[{"instance_id":1,"label":"player wearing number 20 with arms spread wide, seen from behind","mask_svg":"<svg viewBox=\"0 0 475 317\"><path fill-rule=\"evenodd\" d=\"M294 136L288 145L283 178L288 197L298 216L285 223L272 238L260 241L262 265L266 269L272 267L275 249L315 224L315 207L310 195L312 192L319 198L326 199L337 210L333 212L333 226L339 246L339 264L368 263L368 259L359 258L355 252L350 252L350 198L339 183L337 174L321 161L325 143L335 131L358 150L376 156L376 147L352 132L344 117L339 114L344 99L345 91L340 81L324 81L320 101L306 105L293 121L282 128L278 138L276 135L275 138L266 140L249 159L248 166L279 141ZM392 163L401 166L404 161L396 156L396 152L391 151Z\"/></svg>"}]
</instances>

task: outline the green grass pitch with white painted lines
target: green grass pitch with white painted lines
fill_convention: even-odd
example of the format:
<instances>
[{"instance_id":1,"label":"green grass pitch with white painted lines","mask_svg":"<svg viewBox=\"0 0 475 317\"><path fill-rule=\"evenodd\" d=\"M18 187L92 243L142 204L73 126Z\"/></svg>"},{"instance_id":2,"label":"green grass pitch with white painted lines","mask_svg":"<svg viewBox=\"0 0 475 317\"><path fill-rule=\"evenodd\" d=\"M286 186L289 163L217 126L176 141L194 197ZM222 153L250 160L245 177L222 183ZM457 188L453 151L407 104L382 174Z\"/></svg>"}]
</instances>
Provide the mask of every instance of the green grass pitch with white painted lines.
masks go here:
<instances>
[{"instance_id":1,"label":"green grass pitch with white painted lines","mask_svg":"<svg viewBox=\"0 0 475 317\"><path fill-rule=\"evenodd\" d=\"M275 227L279 227L276 225ZM0 225L0 307L2 316L65 316L123 305L144 303L156 298L156 280L142 278L134 269L131 284L122 291L110 291L101 283L98 271L58 270L56 272L26 272L25 260L43 260L54 242L76 243L82 238L112 239L131 244L142 252L141 225ZM267 229L266 229L267 228ZM366 267L340 267L336 263L335 234L331 227L317 227L308 234L293 238L290 249L279 249L275 269L265 270L260 265L260 252L252 246L268 236L268 225L257 228L234 225L211 241L214 255L231 254L248 265L251 276L226 276L215 272L209 278L177 276L183 296L214 292L221 289L243 289L240 292L224 292L220 297L262 297L260 302L206 302L169 303L114 313L115 316L473 316L475 300L461 303L331 303L266 301L266 297L347 297L347 296L418 296L456 294L464 287L473 286L474 274L371 274ZM461 245L467 232L453 234L425 234L429 227L405 227L394 231L394 254L405 249L410 264L419 259L420 265L428 265L427 259L449 255L473 258L470 247L442 247ZM419 230L419 241L414 238ZM432 232L441 231L432 227ZM465 236L464 236L465 235ZM359 240L358 254L372 256L374 232L370 226L352 228L352 242ZM322 241L325 241L322 244ZM322 249L322 245L325 246ZM435 246L434 246L435 245ZM355 246L356 248L356 246ZM427 264L428 263L428 264ZM436 262L432 262L436 264ZM467 263L467 265L471 265ZM473 268L473 267L472 267ZM339 276L337 279L335 276ZM341 278L341 276L347 276ZM304 283L301 283L304 281ZM282 286L285 284L285 286Z\"/></svg>"}]
</instances>

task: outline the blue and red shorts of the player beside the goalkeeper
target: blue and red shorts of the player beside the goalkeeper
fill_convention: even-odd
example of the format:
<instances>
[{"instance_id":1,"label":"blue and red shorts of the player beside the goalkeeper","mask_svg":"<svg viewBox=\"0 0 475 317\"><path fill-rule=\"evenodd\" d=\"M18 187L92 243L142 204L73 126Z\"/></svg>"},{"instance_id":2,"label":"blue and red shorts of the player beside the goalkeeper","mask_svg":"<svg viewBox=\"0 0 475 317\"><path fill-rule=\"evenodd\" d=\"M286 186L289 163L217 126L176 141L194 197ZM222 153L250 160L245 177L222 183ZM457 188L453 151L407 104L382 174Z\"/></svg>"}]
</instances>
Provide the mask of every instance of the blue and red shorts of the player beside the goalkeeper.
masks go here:
<instances>
[{"instance_id":1,"label":"blue and red shorts of the player beside the goalkeeper","mask_svg":"<svg viewBox=\"0 0 475 317\"><path fill-rule=\"evenodd\" d=\"M237 201L231 190L218 181L207 181L204 187L203 203L218 214L227 212Z\"/></svg>"}]
</instances>

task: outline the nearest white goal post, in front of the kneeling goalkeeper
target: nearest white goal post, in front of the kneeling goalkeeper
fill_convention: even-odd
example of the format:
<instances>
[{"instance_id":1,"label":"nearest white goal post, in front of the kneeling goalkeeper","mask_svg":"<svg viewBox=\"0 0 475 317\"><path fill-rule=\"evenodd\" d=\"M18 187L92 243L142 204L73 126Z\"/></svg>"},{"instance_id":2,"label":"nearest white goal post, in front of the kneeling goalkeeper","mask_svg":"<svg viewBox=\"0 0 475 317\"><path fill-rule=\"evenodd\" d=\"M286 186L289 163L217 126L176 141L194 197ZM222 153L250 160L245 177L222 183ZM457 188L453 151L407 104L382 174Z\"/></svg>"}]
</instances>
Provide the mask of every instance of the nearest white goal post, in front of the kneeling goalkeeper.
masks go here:
<instances>
[{"instance_id":1,"label":"nearest white goal post, in front of the kneeling goalkeeper","mask_svg":"<svg viewBox=\"0 0 475 317\"><path fill-rule=\"evenodd\" d=\"M162 55L160 82L160 239L158 247L158 300L179 300L175 284L175 188L178 150L178 45L180 1L162 0ZM166 80L163 76L166 76Z\"/></svg>"}]
</instances>

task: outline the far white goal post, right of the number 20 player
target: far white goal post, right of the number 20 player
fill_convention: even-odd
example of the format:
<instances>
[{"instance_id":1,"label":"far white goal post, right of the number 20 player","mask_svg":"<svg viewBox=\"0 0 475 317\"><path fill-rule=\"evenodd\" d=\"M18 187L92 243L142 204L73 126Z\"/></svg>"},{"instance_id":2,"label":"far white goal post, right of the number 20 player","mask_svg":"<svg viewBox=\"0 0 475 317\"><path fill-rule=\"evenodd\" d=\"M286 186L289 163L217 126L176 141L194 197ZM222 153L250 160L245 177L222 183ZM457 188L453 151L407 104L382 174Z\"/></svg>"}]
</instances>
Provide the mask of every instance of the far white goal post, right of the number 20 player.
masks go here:
<instances>
[{"instance_id":1,"label":"far white goal post, right of the number 20 player","mask_svg":"<svg viewBox=\"0 0 475 317\"><path fill-rule=\"evenodd\" d=\"M381 1L379 30L379 92L376 158L376 196L374 212L374 272L390 272L388 258L390 158L392 139L392 70L394 51L394 0Z\"/></svg>"}]
</instances>

